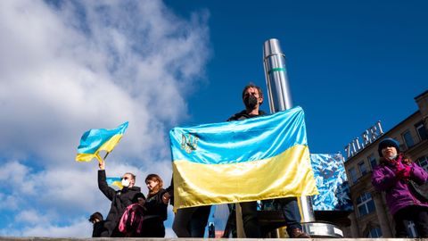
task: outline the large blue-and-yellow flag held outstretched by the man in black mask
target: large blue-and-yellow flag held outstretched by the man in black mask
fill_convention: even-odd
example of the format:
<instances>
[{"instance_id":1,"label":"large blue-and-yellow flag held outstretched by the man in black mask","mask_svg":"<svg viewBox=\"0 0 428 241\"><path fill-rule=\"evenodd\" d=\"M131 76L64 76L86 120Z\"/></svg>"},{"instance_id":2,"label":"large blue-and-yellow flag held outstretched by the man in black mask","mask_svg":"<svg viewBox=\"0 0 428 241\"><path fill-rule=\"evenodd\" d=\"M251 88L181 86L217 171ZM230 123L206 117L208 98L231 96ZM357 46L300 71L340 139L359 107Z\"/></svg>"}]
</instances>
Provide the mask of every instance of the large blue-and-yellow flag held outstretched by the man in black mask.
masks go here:
<instances>
[{"instance_id":1,"label":"large blue-and-yellow flag held outstretched by the man in black mask","mask_svg":"<svg viewBox=\"0 0 428 241\"><path fill-rule=\"evenodd\" d=\"M175 209L317 195L300 107L169 136Z\"/></svg>"}]
</instances>

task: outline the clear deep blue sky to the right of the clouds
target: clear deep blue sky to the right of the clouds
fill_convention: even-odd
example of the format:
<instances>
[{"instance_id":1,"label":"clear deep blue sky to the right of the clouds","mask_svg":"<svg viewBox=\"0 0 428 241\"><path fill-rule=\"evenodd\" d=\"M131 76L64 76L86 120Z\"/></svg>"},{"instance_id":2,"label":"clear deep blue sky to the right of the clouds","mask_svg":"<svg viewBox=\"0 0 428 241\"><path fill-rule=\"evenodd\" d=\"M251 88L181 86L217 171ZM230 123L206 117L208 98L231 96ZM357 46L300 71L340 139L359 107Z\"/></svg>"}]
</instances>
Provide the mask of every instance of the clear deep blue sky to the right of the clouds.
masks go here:
<instances>
[{"instance_id":1,"label":"clear deep blue sky to the right of the clouds","mask_svg":"<svg viewBox=\"0 0 428 241\"><path fill-rule=\"evenodd\" d=\"M413 98L428 87L423 1L186 3L167 1L182 16L210 12L210 84L189 100L194 123L241 110L249 81L266 89L262 46L269 38L280 40L293 104L306 111L315 153L342 151L377 120L391 129L416 111Z\"/></svg>"}]
</instances>

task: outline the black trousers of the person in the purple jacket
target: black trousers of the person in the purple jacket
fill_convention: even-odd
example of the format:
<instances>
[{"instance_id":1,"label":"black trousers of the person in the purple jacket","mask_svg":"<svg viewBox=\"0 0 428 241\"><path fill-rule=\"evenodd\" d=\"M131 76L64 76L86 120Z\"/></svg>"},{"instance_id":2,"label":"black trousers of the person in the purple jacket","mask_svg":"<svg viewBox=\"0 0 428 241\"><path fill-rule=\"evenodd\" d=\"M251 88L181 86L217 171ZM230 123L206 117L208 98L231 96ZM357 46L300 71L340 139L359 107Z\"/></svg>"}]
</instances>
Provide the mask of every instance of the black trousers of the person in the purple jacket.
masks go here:
<instances>
[{"instance_id":1,"label":"black trousers of the person in the purple jacket","mask_svg":"<svg viewBox=\"0 0 428 241\"><path fill-rule=\"evenodd\" d=\"M428 208L411 205L394 214L396 237L407 237L405 221L413 221L418 237L428 237Z\"/></svg>"}]
</instances>

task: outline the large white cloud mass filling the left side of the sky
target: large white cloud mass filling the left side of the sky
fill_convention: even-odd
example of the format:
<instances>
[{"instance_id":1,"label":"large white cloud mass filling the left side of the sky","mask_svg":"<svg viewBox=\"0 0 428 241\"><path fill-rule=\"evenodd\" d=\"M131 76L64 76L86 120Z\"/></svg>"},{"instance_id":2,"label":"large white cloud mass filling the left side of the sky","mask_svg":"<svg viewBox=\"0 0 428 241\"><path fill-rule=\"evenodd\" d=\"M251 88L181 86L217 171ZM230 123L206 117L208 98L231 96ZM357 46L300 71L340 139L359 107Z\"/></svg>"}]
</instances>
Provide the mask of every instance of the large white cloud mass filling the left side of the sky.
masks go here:
<instances>
[{"instance_id":1,"label":"large white cloud mass filling the left side of the sky","mask_svg":"<svg viewBox=\"0 0 428 241\"><path fill-rule=\"evenodd\" d=\"M82 217L107 214L96 162L74 162L87 129L128 120L107 175L132 171L146 193L158 173L168 187L168 128L203 79L207 18L160 1L0 1L0 235L87 237Z\"/></svg>"}]
</instances>

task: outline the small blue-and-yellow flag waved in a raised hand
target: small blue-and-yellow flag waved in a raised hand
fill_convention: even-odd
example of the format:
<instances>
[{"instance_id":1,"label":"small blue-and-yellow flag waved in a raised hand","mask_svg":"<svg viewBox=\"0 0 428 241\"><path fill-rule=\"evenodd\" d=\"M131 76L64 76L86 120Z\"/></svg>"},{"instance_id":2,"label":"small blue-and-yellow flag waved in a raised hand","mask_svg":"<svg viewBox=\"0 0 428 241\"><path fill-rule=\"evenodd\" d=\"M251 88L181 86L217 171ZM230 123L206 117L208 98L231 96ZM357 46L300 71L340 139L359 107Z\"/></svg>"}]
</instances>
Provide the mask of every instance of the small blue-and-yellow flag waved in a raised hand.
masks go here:
<instances>
[{"instance_id":1,"label":"small blue-and-yellow flag waved in a raised hand","mask_svg":"<svg viewBox=\"0 0 428 241\"><path fill-rule=\"evenodd\" d=\"M118 145L126 129L128 129L128 121L116 129L89 129L80 138L76 161L89 162L96 158L101 162L99 152L110 153L114 146Z\"/></svg>"}]
</instances>

